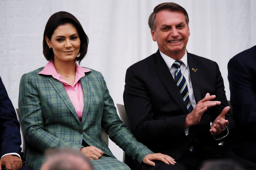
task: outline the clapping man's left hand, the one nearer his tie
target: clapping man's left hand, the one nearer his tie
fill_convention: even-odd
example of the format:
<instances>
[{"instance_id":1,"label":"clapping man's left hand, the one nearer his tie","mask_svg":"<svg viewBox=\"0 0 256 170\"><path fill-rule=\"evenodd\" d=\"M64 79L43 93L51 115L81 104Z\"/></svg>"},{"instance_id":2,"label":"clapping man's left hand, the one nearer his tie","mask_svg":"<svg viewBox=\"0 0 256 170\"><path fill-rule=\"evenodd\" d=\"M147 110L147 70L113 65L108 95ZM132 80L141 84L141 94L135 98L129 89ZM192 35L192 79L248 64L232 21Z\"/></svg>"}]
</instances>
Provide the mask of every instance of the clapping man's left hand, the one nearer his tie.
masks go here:
<instances>
[{"instance_id":1,"label":"clapping man's left hand, the one nearer his tie","mask_svg":"<svg viewBox=\"0 0 256 170\"><path fill-rule=\"evenodd\" d=\"M209 93L206 93L204 99L200 100L192 112L187 115L184 129L187 129L189 126L198 124L203 113L207 110L208 107L220 104L220 101L209 101L215 99L215 97L215 95L210 96Z\"/></svg>"}]
</instances>

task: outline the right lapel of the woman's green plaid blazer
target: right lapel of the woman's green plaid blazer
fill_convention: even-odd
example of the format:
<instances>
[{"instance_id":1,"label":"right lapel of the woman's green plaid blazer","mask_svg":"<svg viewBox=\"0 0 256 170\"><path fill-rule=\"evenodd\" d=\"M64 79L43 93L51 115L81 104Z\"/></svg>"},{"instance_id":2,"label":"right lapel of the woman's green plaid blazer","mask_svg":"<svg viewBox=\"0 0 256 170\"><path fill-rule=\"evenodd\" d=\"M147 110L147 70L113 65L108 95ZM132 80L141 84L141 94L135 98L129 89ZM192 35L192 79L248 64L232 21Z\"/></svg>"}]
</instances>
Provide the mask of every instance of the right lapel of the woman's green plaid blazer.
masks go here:
<instances>
[{"instance_id":1,"label":"right lapel of the woman's green plaid blazer","mask_svg":"<svg viewBox=\"0 0 256 170\"><path fill-rule=\"evenodd\" d=\"M87 74L89 73L85 73L85 76L82 77L80 79L80 83L82 85L82 89L83 89L83 93L84 93L84 109L83 109L83 116L82 116L82 121L81 124L83 124L85 117L87 115L87 112L89 110L90 107L90 80L89 80L89 76Z\"/></svg>"}]
</instances>

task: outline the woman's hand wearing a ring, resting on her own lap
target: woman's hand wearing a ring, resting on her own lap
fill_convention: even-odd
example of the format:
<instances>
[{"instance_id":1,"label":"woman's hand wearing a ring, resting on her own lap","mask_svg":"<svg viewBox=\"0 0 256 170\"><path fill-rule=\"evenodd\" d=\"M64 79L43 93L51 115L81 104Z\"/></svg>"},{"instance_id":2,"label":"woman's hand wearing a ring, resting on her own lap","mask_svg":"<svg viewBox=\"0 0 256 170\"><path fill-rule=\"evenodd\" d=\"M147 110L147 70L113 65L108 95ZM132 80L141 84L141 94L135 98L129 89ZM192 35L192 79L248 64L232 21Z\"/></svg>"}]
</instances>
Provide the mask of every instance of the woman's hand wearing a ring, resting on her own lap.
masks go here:
<instances>
[{"instance_id":1,"label":"woman's hand wearing a ring, resting on her own lap","mask_svg":"<svg viewBox=\"0 0 256 170\"><path fill-rule=\"evenodd\" d=\"M88 159L100 159L103 155L103 151L96 148L95 146L87 146L80 149L80 152L84 154Z\"/></svg>"}]
</instances>

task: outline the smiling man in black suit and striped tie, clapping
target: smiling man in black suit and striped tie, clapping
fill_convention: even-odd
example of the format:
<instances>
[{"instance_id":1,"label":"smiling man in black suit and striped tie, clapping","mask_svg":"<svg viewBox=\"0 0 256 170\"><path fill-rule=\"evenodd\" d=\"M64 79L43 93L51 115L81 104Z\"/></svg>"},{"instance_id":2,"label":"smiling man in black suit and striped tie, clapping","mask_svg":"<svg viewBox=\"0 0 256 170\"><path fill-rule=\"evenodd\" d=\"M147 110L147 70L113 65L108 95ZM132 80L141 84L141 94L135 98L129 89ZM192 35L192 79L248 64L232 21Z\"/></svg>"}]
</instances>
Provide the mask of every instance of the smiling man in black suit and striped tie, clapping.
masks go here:
<instances>
[{"instance_id":1,"label":"smiling man in black suit and striped tie, clapping","mask_svg":"<svg viewBox=\"0 0 256 170\"><path fill-rule=\"evenodd\" d=\"M218 145L234 124L217 63L186 51L188 22L180 5L157 5L148 24L159 50L126 72L124 105L133 133L177 162L157 162L155 169L197 169L205 159L238 159Z\"/></svg>"}]
</instances>

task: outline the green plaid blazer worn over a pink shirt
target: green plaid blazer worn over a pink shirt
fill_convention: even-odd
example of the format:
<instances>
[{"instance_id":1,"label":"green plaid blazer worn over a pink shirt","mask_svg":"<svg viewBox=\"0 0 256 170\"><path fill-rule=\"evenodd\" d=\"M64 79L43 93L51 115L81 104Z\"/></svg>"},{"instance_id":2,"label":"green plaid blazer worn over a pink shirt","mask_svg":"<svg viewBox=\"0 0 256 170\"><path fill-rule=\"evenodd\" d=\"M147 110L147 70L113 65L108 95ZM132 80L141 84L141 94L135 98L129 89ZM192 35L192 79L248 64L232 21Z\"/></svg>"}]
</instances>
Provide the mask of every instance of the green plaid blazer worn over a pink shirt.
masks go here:
<instances>
[{"instance_id":1,"label":"green plaid blazer worn over a pink shirt","mask_svg":"<svg viewBox=\"0 0 256 170\"><path fill-rule=\"evenodd\" d=\"M20 80L19 110L24 135L28 141L28 167L39 170L44 151L64 147L80 150L82 140L115 158L101 137L101 126L109 138L134 160L141 163L149 153L137 142L116 113L105 80L92 70L80 79L84 92L84 110L80 122L62 83L52 76L38 75L39 68Z\"/></svg>"}]
</instances>

